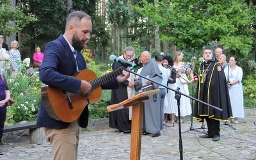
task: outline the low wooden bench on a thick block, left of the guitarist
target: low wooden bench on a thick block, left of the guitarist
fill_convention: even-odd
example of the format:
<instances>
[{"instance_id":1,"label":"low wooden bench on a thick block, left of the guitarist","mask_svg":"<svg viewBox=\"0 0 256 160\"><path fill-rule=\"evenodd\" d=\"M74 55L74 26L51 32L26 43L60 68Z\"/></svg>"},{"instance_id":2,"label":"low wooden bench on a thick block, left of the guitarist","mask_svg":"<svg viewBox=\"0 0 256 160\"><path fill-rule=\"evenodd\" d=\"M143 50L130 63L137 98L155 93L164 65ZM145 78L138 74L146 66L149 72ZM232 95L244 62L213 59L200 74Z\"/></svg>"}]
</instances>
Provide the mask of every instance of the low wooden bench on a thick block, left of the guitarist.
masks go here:
<instances>
[{"instance_id":1,"label":"low wooden bench on a thick block, left of the guitarist","mask_svg":"<svg viewBox=\"0 0 256 160\"><path fill-rule=\"evenodd\" d=\"M47 142L44 136L43 127L36 125L36 121L28 122L25 124L10 125L4 127L3 132L13 132L29 129L29 143L30 144L42 144Z\"/></svg>"}]
</instances>

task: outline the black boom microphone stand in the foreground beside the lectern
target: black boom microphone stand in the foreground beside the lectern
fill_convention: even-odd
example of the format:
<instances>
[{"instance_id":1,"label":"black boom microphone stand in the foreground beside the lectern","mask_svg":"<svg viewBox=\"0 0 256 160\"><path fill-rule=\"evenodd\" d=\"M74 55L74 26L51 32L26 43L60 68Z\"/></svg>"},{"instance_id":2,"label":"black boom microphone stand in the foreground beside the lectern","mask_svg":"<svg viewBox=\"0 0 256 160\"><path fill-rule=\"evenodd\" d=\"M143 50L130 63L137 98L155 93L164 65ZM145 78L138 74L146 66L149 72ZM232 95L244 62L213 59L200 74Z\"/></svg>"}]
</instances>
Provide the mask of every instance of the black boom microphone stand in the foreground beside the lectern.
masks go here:
<instances>
[{"instance_id":1,"label":"black boom microphone stand in the foreground beside the lectern","mask_svg":"<svg viewBox=\"0 0 256 160\"><path fill-rule=\"evenodd\" d=\"M139 76L141 78L144 78L144 79L147 79L148 81L151 81L152 83L156 83L156 84L159 84L160 86L163 86L164 88L167 88L169 90L172 90L173 92L175 92L175 99L177 99L177 104L178 104L178 115L179 115L179 121L180 121L180 97L181 95L184 95L185 97L188 97L189 99L193 99L193 100L196 100L197 102L200 102L202 104L205 104L206 106L209 106L213 109L216 109L217 111L223 111L223 109L221 108L218 108L216 106L212 106L211 104L207 104L206 102L202 101L202 100L199 100L199 99L195 99L194 97L190 97L189 95L186 95L184 93L181 93L179 91L179 88L177 88L177 90L173 90L172 88L168 87L168 86L164 86L163 84L161 83L158 83L157 81L153 81L152 79L150 78L147 78L145 76L142 76L140 74L137 74L136 72L133 72L131 69L129 68L126 68L125 71L127 72L130 72L132 74L135 74L136 76ZM162 123L162 122L161 122ZM181 138L181 123L179 123L179 151L180 151L180 160L183 160L183 155L182 155L182 152L183 152L183 148L182 148L182 138Z\"/></svg>"}]
</instances>

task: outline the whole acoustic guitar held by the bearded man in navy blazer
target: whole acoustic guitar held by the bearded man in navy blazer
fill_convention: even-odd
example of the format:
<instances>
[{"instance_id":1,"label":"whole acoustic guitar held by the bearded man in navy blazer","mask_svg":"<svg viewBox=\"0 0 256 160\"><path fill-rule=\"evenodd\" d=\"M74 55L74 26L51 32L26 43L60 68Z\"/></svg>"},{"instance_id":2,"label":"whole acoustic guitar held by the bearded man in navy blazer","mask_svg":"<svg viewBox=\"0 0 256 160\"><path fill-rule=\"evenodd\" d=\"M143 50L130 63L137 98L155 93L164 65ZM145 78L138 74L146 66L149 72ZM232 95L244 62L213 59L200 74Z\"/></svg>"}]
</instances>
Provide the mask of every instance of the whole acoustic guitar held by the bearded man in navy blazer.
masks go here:
<instances>
[{"instance_id":1,"label":"whole acoustic guitar held by the bearded man in navy blazer","mask_svg":"<svg viewBox=\"0 0 256 160\"><path fill-rule=\"evenodd\" d=\"M51 118L63 122L74 122L83 112L87 104L94 104L101 97L101 85L122 74L124 67L120 67L113 72L109 72L102 77L97 78L92 70L82 70L76 72L74 77L88 81L92 85L90 93L84 95L65 92L60 88L43 84L41 88L41 97L45 109Z\"/></svg>"}]
</instances>

